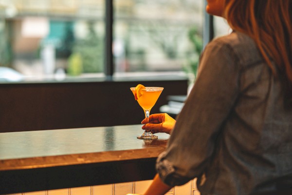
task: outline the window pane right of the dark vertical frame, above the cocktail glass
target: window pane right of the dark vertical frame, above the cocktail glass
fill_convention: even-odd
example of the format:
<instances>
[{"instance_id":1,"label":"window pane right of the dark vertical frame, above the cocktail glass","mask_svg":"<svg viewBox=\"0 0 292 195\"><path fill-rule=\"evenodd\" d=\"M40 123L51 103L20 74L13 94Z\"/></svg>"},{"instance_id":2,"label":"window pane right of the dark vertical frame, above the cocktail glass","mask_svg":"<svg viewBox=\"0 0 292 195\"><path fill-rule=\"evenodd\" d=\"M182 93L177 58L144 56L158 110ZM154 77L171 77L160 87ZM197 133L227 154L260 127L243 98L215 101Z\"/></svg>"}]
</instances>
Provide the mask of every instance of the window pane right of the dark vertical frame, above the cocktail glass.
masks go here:
<instances>
[{"instance_id":1,"label":"window pane right of the dark vertical frame, above the cocktail glass","mask_svg":"<svg viewBox=\"0 0 292 195\"><path fill-rule=\"evenodd\" d=\"M202 0L115 0L116 73L181 71L202 43ZM197 56L196 56L197 57Z\"/></svg>"}]
</instances>

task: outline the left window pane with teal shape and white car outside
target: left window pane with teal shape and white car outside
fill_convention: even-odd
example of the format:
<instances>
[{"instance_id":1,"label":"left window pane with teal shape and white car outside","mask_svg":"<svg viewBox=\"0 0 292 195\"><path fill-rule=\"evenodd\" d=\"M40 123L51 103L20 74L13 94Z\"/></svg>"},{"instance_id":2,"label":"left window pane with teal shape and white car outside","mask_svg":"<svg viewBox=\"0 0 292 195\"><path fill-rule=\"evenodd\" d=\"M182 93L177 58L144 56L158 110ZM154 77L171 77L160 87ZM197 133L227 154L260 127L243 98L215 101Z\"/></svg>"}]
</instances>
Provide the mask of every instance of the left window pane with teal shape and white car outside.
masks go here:
<instances>
[{"instance_id":1,"label":"left window pane with teal shape and white car outside","mask_svg":"<svg viewBox=\"0 0 292 195\"><path fill-rule=\"evenodd\" d=\"M0 3L0 81L103 75L104 0Z\"/></svg>"}]
</instances>

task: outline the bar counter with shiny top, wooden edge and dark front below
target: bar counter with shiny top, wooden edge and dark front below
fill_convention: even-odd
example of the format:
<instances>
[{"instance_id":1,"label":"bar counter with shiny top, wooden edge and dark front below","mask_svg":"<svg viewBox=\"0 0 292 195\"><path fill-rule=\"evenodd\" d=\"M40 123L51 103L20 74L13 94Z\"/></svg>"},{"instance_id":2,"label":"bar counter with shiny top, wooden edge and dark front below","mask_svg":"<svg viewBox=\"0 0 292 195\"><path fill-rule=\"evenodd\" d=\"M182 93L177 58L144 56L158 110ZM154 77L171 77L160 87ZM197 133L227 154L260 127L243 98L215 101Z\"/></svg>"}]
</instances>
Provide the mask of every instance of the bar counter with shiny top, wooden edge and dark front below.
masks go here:
<instances>
[{"instance_id":1,"label":"bar counter with shiny top, wooden edge and dark front below","mask_svg":"<svg viewBox=\"0 0 292 195\"><path fill-rule=\"evenodd\" d=\"M169 135L142 125L0 133L0 194L152 179Z\"/></svg>"}]
</instances>

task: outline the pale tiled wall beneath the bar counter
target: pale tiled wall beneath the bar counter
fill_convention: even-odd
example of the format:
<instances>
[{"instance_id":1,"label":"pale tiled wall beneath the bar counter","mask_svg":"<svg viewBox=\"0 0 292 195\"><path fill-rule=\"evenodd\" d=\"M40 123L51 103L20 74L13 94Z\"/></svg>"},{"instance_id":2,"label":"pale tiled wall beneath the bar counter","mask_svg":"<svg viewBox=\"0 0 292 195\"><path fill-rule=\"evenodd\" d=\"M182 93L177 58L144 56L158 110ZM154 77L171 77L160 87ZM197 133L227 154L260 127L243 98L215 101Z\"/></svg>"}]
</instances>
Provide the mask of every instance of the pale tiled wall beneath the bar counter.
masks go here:
<instances>
[{"instance_id":1,"label":"pale tiled wall beneath the bar counter","mask_svg":"<svg viewBox=\"0 0 292 195\"><path fill-rule=\"evenodd\" d=\"M144 194L152 180L117 183L98 186L87 186L79 188L67 188L60 190L48 190L39 192L19 193L10 195L127 195ZM200 195L197 189L196 179L183 186L172 188L165 195Z\"/></svg>"}]
</instances>

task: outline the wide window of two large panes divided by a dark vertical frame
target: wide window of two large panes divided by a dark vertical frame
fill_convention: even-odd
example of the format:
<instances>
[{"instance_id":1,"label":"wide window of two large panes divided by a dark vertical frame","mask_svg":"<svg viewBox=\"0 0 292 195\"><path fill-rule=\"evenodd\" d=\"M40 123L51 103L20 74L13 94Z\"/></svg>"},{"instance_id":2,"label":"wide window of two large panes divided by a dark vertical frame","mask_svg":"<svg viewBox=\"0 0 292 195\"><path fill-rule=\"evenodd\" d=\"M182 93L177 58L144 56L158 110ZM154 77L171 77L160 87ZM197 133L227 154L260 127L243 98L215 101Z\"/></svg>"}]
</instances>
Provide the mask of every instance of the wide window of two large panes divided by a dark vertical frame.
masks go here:
<instances>
[{"instance_id":1,"label":"wide window of two large panes divided by a dark vertical frame","mask_svg":"<svg viewBox=\"0 0 292 195\"><path fill-rule=\"evenodd\" d=\"M10 0L0 15L0 82L194 73L202 49L203 0Z\"/></svg>"}]
</instances>

